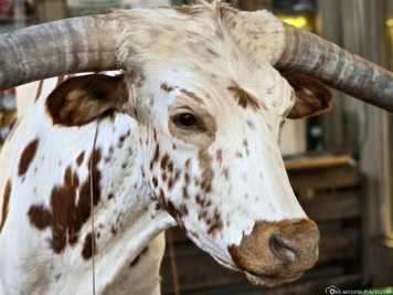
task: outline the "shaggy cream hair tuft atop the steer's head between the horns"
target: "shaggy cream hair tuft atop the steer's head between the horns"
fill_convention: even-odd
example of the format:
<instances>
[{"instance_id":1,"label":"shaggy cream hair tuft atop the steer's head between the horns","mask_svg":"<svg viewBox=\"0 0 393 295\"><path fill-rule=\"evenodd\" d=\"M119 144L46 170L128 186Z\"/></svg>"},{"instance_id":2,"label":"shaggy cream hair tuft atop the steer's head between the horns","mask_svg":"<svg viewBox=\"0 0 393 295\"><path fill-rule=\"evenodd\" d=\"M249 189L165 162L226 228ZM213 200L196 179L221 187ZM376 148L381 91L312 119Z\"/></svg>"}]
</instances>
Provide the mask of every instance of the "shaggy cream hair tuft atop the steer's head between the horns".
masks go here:
<instances>
[{"instance_id":1,"label":"shaggy cream hair tuft atop the steer's head between the horns","mask_svg":"<svg viewBox=\"0 0 393 295\"><path fill-rule=\"evenodd\" d=\"M191 12L139 9L117 11L115 17L123 31L120 62L127 70L140 66L148 74L185 67L240 75L274 63L284 46L284 28L267 11L237 12L205 4Z\"/></svg>"}]
</instances>

